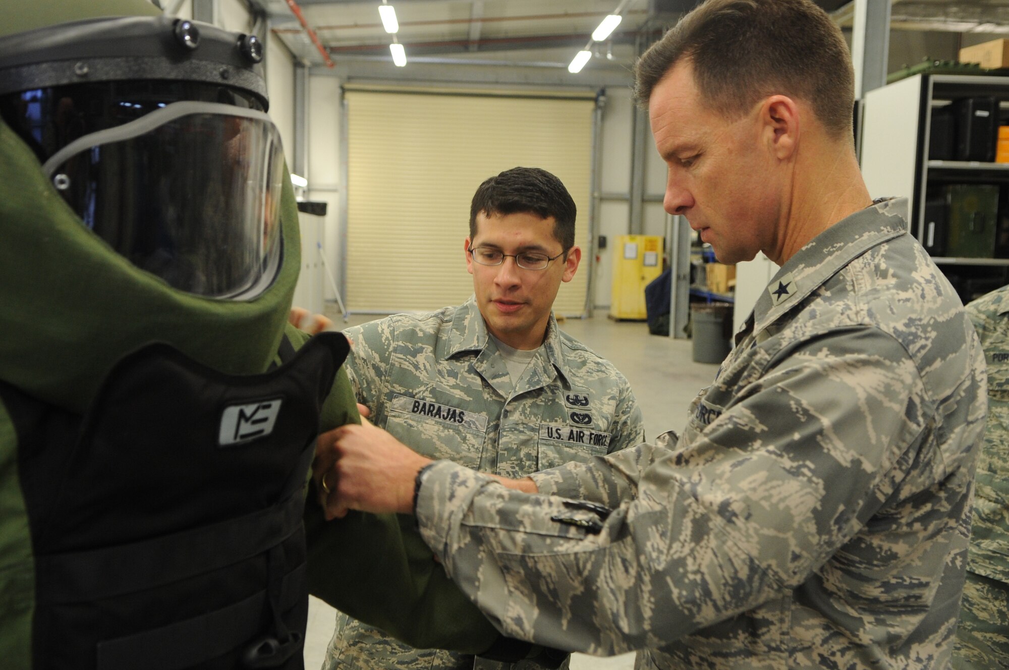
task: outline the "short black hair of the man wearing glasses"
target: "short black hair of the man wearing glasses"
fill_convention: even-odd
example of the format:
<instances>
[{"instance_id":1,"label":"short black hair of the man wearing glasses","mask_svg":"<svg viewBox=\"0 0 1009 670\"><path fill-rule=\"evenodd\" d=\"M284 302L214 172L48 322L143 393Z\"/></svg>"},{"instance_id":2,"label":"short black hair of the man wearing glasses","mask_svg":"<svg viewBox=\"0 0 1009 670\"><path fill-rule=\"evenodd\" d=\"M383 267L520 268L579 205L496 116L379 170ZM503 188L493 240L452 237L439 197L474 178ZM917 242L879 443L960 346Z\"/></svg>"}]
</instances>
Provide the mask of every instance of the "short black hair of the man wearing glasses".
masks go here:
<instances>
[{"instance_id":1,"label":"short black hair of the man wearing glasses","mask_svg":"<svg viewBox=\"0 0 1009 670\"><path fill-rule=\"evenodd\" d=\"M564 253L574 246L577 208L559 179L539 167L513 167L490 177L473 194L469 205L469 239L476 236L476 215L508 215L531 212L542 219L554 218L554 237Z\"/></svg>"}]
</instances>

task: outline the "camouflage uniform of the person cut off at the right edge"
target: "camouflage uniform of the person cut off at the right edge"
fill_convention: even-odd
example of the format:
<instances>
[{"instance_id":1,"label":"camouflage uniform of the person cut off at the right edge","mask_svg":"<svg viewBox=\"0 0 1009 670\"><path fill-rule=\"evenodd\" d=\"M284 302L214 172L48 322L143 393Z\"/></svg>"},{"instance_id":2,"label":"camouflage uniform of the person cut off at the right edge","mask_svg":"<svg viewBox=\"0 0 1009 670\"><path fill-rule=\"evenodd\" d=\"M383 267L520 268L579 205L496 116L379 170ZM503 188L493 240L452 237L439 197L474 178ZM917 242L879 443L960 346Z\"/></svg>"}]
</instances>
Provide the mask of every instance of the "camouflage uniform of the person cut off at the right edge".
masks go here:
<instances>
[{"instance_id":1,"label":"camouflage uniform of the person cut off at the right edge","mask_svg":"<svg viewBox=\"0 0 1009 670\"><path fill-rule=\"evenodd\" d=\"M1009 287L967 306L988 360L988 425L954 666L1009 667Z\"/></svg>"}]
</instances>

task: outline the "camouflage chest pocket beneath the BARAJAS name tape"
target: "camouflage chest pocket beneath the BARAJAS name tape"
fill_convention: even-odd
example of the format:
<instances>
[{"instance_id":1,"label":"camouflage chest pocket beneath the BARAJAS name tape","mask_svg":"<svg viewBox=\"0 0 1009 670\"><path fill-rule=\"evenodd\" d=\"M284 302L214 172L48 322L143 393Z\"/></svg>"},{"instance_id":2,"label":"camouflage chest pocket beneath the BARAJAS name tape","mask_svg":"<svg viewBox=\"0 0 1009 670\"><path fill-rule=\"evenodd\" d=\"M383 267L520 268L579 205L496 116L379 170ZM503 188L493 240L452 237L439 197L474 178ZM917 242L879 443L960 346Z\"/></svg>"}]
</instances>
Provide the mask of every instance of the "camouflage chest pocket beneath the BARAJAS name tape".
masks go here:
<instances>
[{"instance_id":1,"label":"camouflage chest pocket beneath the BARAJAS name tape","mask_svg":"<svg viewBox=\"0 0 1009 670\"><path fill-rule=\"evenodd\" d=\"M448 458L477 468L487 418L464 409L397 396L388 407L385 430L428 458Z\"/></svg>"}]
</instances>

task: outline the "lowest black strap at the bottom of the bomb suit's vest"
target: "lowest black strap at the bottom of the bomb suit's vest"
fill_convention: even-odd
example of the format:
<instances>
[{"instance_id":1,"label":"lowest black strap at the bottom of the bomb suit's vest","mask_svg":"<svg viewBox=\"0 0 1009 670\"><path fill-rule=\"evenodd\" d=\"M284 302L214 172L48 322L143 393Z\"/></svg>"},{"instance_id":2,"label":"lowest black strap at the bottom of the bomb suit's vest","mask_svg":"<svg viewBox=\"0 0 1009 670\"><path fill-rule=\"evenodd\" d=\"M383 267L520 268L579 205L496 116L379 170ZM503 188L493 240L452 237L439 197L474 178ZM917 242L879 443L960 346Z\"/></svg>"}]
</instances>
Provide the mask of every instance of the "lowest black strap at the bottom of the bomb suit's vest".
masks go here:
<instances>
[{"instance_id":1,"label":"lowest black strap at the bottom of the bomb suit's vest","mask_svg":"<svg viewBox=\"0 0 1009 670\"><path fill-rule=\"evenodd\" d=\"M284 577L281 607L298 604L305 594L305 569ZM266 590L216 611L153 631L98 643L96 670L178 670L222 656L254 637L266 607Z\"/></svg>"}]
</instances>

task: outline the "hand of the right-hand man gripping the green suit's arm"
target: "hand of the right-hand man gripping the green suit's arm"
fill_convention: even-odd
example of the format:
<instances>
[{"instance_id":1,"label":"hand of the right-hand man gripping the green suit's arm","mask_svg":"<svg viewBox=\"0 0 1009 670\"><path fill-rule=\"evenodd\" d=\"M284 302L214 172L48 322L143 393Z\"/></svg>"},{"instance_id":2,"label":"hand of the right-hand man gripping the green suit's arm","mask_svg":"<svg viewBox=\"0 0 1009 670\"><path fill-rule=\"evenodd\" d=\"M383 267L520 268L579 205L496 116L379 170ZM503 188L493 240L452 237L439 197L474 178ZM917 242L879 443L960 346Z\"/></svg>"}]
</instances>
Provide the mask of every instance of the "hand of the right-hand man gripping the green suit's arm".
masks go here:
<instances>
[{"instance_id":1,"label":"hand of the right-hand man gripping the green suit's arm","mask_svg":"<svg viewBox=\"0 0 1009 670\"><path fill-rule=\"evenodd\" d=\"M361 418L319 436L314 473L326 519L349 510L413 514L414 483L432 462Z\"/></svg>"}]
</instances>

